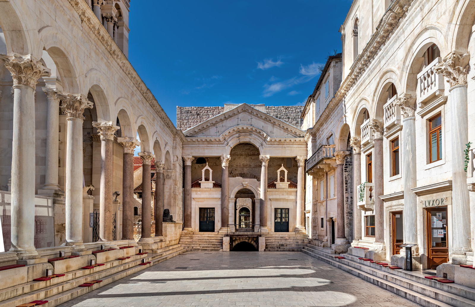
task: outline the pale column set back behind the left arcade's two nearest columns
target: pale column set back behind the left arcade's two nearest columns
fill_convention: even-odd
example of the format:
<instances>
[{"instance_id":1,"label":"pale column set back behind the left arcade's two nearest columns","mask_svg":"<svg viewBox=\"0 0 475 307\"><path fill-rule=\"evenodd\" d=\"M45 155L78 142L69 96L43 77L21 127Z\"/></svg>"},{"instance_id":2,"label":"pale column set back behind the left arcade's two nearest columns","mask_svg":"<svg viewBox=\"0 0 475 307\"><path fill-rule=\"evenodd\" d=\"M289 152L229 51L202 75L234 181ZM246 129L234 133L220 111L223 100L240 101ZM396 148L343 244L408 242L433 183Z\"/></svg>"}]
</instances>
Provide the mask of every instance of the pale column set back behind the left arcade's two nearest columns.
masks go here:
<instances>
[{"instance_id":1,"label":"pale column set back behind the left arcade's two nearest columns","mask_svg":"<svg viewBox=\"0 0 475 307\"><path fill-rule=\"evenodd\" d=\"M61 190L58 184L59 99L58 89L42 88L48 99L46 129L46 176L43 190Z\"/></svg>"}]
</instances>

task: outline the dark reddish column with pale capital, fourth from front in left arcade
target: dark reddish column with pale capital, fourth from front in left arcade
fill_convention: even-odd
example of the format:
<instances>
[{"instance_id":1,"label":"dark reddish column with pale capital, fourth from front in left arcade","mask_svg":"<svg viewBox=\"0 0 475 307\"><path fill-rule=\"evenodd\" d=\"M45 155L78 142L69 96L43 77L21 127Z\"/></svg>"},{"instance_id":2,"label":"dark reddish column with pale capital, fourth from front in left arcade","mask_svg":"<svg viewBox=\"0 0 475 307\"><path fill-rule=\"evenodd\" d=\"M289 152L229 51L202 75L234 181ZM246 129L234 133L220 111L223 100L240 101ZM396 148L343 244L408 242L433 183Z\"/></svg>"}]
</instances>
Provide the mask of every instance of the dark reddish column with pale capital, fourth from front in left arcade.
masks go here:
<instances>
[{"instance_id":1,"label":"dark reddish column with pale capital, fourth from front in left arcade","mask_svg":"<svg viewBox=\"0 0 475 307\"><path fill-rule=\"evenodd\" d=\"M132 137L119 137L123 147L122 171L122 240L133 240L133 151L140 145Z\"/></svg>"}]
</instances>

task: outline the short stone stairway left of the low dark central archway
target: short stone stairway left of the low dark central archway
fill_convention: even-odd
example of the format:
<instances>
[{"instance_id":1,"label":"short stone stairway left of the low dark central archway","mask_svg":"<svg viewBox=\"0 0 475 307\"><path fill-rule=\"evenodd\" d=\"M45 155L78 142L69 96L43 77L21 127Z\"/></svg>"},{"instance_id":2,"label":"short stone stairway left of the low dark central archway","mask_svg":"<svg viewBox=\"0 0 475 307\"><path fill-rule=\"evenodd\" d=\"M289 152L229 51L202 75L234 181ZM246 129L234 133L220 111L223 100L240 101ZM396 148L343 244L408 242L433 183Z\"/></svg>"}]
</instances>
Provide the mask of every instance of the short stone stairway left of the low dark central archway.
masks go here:
<instances>
[{"instance_id":1,"label":"short stone stairway left of the low dark central archway","mask_svg":"<svg viewBox=\"0 0 475 307\"><path fill-rule=\"evenodd\" d=\"M225 235L226 233L183 231L179 244L189 252L222 251L223 236Z\"/></svg>"}]
</instances>

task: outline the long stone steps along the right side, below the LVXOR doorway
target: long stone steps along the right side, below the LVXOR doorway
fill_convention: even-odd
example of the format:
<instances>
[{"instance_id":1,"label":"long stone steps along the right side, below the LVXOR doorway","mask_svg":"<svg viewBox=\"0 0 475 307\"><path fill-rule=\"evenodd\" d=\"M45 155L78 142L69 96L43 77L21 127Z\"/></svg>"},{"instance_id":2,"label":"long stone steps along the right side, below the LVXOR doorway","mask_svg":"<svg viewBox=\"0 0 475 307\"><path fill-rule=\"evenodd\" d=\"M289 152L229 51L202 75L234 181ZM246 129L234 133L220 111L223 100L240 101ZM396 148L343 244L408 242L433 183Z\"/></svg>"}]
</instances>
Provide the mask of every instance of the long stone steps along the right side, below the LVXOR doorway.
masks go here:
<instances>
[{"instance_id":1,"label":"long stone steps along the right side, below the LVXOR doorway","mask_svg":"<svg viewBox=\"0 0 475 307\"><path fill-rule=\"evenodd\" d=\"M475 289L456 284L443 284L418 277L411 274L412 272L391 270L374 263L359 263L346 258L336 259L334 255L314 247L315 245L308 244L302 252L422 306L475 307ZM342 256L346 257L347 254Z\"/></svg>"}]
</instances>

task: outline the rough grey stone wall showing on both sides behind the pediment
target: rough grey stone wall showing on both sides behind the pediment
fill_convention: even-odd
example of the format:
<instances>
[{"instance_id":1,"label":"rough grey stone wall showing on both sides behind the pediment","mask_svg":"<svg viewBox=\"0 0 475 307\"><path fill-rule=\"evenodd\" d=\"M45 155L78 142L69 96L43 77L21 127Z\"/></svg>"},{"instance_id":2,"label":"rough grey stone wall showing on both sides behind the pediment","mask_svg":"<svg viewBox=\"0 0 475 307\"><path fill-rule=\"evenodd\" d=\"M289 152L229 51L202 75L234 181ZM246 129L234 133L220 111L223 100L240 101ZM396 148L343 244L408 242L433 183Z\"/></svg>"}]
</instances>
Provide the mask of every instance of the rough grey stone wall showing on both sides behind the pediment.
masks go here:
<instances>
[{"instance_id":1,"label":"rough grey stone wall showing on both sides behind the pediment","mask_svg":"<svg viewBox=\"0 0 475 307\"><path fill-rule=\"evenodd\" d=\"M265 106L264 109L270 116L300 128L304 106ZM177 107L177 128L185 131L223 112L224 107Z\"/></svg>"}]
</instances>

